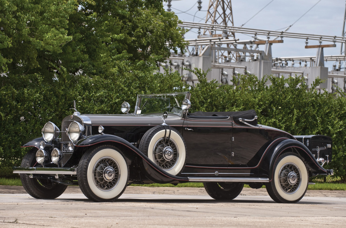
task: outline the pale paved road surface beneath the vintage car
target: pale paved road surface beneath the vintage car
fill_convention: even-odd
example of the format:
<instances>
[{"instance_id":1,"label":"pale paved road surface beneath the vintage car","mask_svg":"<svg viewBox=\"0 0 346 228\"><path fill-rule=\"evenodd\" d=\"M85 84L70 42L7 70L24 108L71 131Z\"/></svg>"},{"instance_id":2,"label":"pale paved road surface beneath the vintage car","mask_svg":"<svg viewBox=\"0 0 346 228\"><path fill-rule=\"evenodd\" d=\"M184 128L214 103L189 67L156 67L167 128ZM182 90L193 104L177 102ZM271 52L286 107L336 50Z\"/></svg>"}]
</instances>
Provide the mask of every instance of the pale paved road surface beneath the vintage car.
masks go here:
<instances>
[{"instance_id":1,"label":"pale paved road surface beneath the vintage car","mask_svg":"<svg viewBox=\"0 0 346 228\"><path fill-rule=\"evenodd\" d=\"M117 202L95 203L78 187L55 200L4 188L0 227L346 227L343 191L308 192L315 196L279 204L263 189L244 189L235 200L219 201L202 188L128 187Z\"/></svg>"}]
</instances>

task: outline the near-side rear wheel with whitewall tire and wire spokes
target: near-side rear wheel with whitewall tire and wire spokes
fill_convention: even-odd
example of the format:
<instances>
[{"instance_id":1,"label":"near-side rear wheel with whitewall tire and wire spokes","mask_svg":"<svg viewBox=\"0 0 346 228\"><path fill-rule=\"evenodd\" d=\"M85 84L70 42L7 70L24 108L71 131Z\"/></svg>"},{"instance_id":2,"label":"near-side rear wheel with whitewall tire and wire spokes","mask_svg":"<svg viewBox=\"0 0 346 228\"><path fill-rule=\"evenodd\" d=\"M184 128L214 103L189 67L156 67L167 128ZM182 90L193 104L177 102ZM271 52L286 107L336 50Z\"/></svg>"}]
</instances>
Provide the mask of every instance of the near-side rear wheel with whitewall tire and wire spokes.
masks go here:
<instances>
[{"instance_id":1,"label":"near-side rear wheel with whitewall tire and wire spokes","mask_svg":"<svg viewBox=\"0 0 346 228\"><path fill-rule=\"evenodd\" d=\"M280 155L271 182L266 183L270 197L277 203L296 203L306 193L309 175L303 161L294 153Z\"/></svg>"}]
</instances>

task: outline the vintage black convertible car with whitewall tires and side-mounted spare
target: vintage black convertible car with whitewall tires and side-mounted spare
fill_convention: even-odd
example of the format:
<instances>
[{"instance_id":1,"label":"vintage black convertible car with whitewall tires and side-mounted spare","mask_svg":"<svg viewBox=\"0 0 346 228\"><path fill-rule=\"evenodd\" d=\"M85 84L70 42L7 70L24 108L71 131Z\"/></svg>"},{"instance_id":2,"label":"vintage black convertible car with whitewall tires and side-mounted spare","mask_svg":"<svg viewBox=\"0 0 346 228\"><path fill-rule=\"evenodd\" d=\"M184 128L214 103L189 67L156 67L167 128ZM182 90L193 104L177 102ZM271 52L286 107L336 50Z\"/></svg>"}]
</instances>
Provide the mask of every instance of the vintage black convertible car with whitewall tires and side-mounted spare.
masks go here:
<instances>
[{"instance_id":1,"label":"vintage black convertible car with whitewall tires and side-mounted spare","mask_svg":"<svg viewBox=\"0 0 346 228\"><path fill-rule=\"evenodd\" d=\"M54 199L78 184L93 201L115 201L130 184L202 182L214 199L231 200L244 184L266 186L280 203L298 202L309 177L333 175L331 138L292 136L257 124L254 110L194 112L190 93L138 95L134 113L74 112L52 122L31 149L19 173L34 198ZM60 137L60 138L59 138Z\"/></svg>"}]
</instances>

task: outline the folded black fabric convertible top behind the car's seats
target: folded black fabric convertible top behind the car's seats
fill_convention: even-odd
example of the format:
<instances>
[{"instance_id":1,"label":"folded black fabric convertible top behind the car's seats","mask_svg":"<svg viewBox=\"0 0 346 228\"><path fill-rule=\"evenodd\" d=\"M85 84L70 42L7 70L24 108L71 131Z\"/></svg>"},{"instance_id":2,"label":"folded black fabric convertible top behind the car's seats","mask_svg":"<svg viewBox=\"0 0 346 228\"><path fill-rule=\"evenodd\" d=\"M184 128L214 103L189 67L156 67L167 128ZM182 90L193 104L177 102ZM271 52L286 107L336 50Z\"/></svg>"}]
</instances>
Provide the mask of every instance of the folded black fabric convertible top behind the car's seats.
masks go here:
<instances>
[{"instance_id":1,"label":"folded black fabric convertible top behind the car's seats","mask_svg":"<svg viewBox=\"0 0 346 228\"><path fill-rule=\"evenodd\" d=\"M244 123L239 121L239 118L252 120L257 115L256 111L254 109L247 110L247 111L240 111L240 112L193 112L189 113L191 116L231 116L233 117L233 120L238 125L245 125ZM257 120L247 122L251 125L257 125Z\"/></svg>"}]
</instances>

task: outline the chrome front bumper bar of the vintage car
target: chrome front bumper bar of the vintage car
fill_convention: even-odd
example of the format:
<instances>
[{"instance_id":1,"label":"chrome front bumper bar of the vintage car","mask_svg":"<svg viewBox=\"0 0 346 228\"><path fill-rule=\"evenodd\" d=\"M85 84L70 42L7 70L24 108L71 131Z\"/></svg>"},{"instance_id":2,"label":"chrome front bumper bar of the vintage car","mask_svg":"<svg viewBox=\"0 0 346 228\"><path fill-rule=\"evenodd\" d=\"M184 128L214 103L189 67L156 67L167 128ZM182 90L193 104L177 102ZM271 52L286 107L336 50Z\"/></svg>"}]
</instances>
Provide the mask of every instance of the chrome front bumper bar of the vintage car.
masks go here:
<instances>
[{"instance_id":1,"label":"chrome front bumper bar of the vintage car","mask_svg":"<svg viewBox=\"0 0 346 228\"><path fill-rule=\"evenodd\" d=\"M27 174L77 174L77 168L13 167L13 173Z\"/></svg>"}]
</instances>

